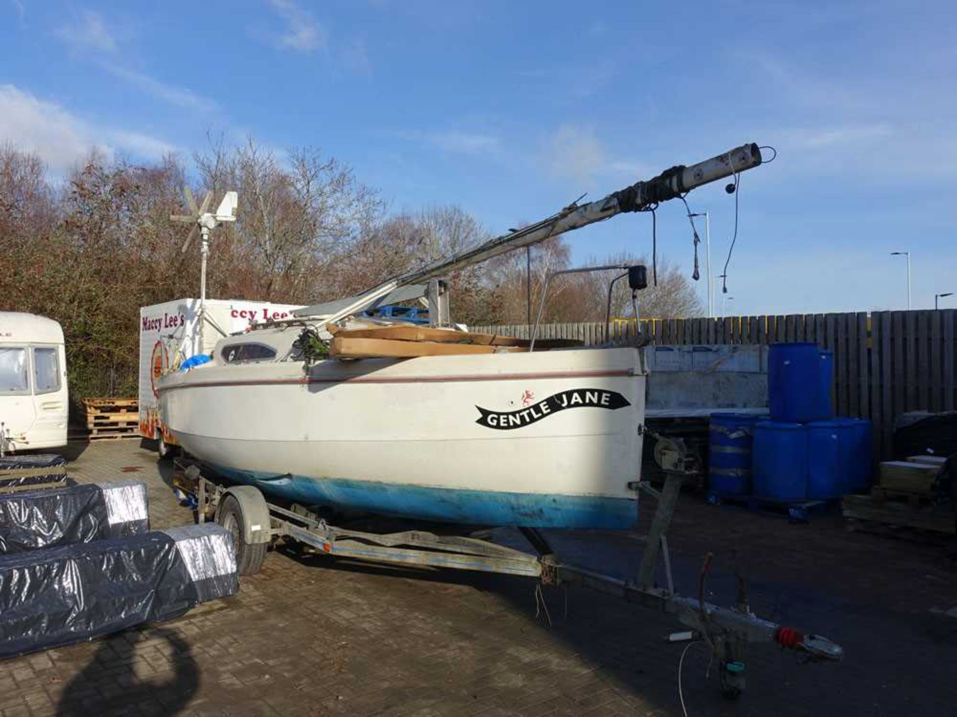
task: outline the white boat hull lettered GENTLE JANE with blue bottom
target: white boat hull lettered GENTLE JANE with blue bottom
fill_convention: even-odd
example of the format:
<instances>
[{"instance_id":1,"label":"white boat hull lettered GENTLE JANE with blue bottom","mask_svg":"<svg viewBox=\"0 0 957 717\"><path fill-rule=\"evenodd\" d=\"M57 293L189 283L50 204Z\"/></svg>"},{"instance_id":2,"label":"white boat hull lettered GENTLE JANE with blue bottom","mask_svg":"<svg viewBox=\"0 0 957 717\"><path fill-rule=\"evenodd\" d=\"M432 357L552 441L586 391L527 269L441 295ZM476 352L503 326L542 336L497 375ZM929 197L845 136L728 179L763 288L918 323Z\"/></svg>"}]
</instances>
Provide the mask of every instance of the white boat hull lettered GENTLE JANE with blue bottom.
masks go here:
<instances>
[{"instance_id":1,"label":"white boat hull lettered GENTLE JANE with blue bottom","mask_svg":"<svg viewBox=\"0 0 957 717\"><path fill-rule=\"evenodd\" d=\"M163 380L189 453L308 505L460 523L627 528L645 376L634 348L208 364Z\"/></svg>"}]
</instances>

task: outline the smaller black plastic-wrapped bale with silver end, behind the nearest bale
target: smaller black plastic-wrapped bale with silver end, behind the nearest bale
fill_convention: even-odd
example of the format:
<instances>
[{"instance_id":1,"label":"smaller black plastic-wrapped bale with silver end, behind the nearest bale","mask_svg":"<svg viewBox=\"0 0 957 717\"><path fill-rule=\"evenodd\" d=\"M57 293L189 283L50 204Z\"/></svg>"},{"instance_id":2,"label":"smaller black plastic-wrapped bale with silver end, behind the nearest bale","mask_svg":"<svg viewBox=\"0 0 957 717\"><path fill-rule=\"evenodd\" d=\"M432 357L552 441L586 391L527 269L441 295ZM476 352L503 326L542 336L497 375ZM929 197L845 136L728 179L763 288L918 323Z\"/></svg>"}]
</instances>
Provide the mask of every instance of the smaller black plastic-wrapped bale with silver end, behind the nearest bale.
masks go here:
<instances>
[{"instance_id":1,"label":"smaller black plastic-wrapped bale with silver end, behind the nearest bale","mask_svg":"<svg viewBox=\"0 0 957 717\"><path fill-rule=\"evenodd\" d=\"M142 481L0 494L0 554L149 531Z\"/></svg>"}]
</instances>

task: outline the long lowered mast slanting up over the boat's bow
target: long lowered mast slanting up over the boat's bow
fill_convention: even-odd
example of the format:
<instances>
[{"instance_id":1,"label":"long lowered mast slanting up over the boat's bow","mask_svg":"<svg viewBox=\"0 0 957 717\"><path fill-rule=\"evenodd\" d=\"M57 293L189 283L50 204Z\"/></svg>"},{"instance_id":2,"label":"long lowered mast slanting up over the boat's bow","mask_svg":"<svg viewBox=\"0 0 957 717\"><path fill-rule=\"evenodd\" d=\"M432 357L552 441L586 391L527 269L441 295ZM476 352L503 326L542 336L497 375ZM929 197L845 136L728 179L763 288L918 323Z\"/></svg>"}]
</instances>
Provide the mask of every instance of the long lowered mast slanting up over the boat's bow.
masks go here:
<instances>
[{"instance_id":1,"label":"long lowered mast slanting up over the boat's bow","mask_svg":"<svg viewBox=\"0 0 957 717\"><path fill-rule=\"evenodd\" d=\"M661 172L654 179L636 182L634 185L612 192L604 199L589 202L585 205L573 202L540 222L528 227L514 229L451 258L441 259L414 272L391 278L389 281L361 293L355 301L336 314L325 318L325 320L328 322L338 321L345 316L361 312L373 302L399 287L439 278L449 272L455 272L472 264L479 264L479 262L491 259L506 251L530 247L566 231L611 219L622 212L642 211L652 208L661 202L682 196L696 187L739 174L760 163L761 150L758 145L755 143L743 144L704 162L690 166L684 164L673 166ZM313 313L310 308L306 308L295 312L295 315L309 316Z\"/></svg>"}]
</instances>

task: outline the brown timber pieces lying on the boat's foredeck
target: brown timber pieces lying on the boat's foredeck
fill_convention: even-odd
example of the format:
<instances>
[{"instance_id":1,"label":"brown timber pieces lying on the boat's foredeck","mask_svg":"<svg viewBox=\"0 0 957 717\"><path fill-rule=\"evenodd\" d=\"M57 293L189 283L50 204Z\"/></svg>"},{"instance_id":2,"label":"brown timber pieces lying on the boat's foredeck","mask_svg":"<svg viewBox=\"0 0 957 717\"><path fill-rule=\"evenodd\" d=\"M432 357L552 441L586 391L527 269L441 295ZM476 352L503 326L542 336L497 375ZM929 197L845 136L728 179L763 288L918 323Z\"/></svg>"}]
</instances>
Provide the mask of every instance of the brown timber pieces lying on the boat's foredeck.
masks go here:
<instances>
[{"instance_id":1,"label":"brown timber pieces lying on the boat's foredeck","mask_svg":"<svg viewBox=\"0 0 957 717\"><path fill-rule=\"evenodd\" d=\"M435 329L414 325L362 325L342 328L328 324L332 335L330 356L335 359L411 359L420 356L469 356L528 351L525 338L497 334L474 334L456 329ZM569 348L582 341L566 338L537 339L536 349Z\"/></svg>"}]
</instances>

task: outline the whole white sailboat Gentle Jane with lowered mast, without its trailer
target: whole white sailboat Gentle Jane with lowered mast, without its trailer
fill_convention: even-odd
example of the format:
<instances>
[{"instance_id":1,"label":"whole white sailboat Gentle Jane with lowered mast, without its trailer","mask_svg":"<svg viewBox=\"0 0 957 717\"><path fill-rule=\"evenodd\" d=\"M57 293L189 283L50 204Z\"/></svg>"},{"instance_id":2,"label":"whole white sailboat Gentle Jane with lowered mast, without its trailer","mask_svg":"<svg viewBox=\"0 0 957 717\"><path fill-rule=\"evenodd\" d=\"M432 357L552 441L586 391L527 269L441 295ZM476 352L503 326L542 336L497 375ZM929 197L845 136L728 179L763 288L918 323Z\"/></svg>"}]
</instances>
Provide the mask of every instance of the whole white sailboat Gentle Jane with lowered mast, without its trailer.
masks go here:
<instances>
[{"instance_id":1,"label":"whole white sailboat Gentle Jane with lowered mast, without its trailer","mask_svg":"<svg viewBox=\"0 0 957 717\"><path fill-rule=\"evenodd\" d=\"M160 382L164 421L189 453L274 499L464 524L630 528L644 420L640 349L529 351L454 330L350 329L349 319L408 287L760 163L757 145L746 144L672 167L332 307L224 337L211 361ZM397 340L396 329L455 339ZM326 339L332 356L318 358Z\"/></svg>"}]
</instances>

